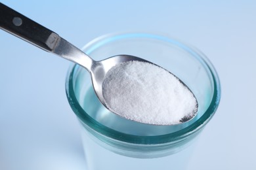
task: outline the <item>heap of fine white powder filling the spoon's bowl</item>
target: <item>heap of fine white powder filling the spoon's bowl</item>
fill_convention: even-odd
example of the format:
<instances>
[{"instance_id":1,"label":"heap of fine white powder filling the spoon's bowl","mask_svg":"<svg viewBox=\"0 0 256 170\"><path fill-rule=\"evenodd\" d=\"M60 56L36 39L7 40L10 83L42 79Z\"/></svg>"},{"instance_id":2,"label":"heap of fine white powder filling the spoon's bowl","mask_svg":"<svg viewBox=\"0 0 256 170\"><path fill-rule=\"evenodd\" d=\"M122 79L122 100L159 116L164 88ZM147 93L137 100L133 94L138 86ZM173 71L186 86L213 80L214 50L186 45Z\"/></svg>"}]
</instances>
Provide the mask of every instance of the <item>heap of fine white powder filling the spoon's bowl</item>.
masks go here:
<instances>
[{"instance_id":1,"label":"heap of fine white powder filling the spoon's bowl","mask_svg":"<svg viewBox=\"0 0 256 170\"><path fill-rule=\"evenodd\" d=\"M193 93L176 76L142 61L110 69L102 90L108 109L141 123L178 124L198 110Z\"/></svg>"}]
</instances>

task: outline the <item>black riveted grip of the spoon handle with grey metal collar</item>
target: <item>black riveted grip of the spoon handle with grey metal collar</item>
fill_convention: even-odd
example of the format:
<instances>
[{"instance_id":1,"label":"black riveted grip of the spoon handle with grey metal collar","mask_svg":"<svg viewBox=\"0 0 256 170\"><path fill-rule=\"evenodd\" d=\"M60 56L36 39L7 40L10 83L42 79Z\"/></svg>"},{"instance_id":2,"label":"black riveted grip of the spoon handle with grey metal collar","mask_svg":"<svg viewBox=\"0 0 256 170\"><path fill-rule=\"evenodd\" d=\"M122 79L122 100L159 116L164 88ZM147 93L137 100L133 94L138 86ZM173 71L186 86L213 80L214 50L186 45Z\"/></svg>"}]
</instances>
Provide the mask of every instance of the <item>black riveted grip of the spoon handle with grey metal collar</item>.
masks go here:
<instances>
[{"instance_id":1,"label":"black riveted grip of the spoon handle with grey metal collar","mask_svg":"<svg viewBox=\"0 0 256 170\"><path fill-rule=\"evenodd\" d=\"M59 36L30 18L0 3L0 28L43 50L53 51Z\"/></svg>"}]
</instances>

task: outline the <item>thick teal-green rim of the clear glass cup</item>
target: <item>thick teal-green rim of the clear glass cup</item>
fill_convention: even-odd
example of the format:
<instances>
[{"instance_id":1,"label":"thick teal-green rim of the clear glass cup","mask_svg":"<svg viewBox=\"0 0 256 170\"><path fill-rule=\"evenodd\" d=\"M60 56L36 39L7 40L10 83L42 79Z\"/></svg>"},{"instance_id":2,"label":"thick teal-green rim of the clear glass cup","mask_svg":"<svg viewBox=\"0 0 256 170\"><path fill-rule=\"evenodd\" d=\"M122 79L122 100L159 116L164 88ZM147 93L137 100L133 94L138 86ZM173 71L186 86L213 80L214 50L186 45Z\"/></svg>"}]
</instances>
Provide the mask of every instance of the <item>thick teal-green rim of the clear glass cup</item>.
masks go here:
<instances>
[{"instance_id":1,"label":"thick teal-green rim of the clear glass cup","mask_svg":"<svg viewBox=\"0 0 256 170\"><path fill-rule=\"evenodd\" d=\"M196 48L193 48L191 46L188 46L184 44L181 41L176 41L174 39L171 39L169 37L165 37L162 35L156 35L152 33L116 33L116 34L109 34L104 35L102 37L98 37L95 40L87 43L86 46L91 46L91 44L95 44L97 42L106 42L108 39L123 39L125 37L146 37L146 38L154 38L154 39L160 39L162 41L171 41L171 43L177 44L180 48L190 52L193 54L196 59L200 60L201 63L203 63L204 67L207 67L209 69L209 72L211 74L211 77L213 78L213 97L211 99L209 107L205 110L205 112L202 114L196 122L191 124L188 127L185 127L184 129L181 129L179 131L173 132L173 133L167 133L164 135L152 135L152 136L141 136L141 135L130 135L127 133L122 133L120 131L116 131L114 129L111 129L110 127L106 127L103 124L100 124L100 122L97 122L85 110L82 109L81 105L79 105L79 102L77 101L77 98L75 96L74 92L74 74L75 71L80 67L77 64L73 64L70 69L68 70L68 74L66 76L66 95L68 97L68 102L70 103L70 107L72 107L72 110L76 114L76 116L79 118L83 124L85 124L87 127L93 129L96 133L100 133L102 136L114 139L117 141L122 141L125 143L133 143L133 144L163 144L163 143L170 143L172 141L179 141L188 135L192 135L193 133L196 133L198 130L202 129L207 122L213 117L213 114L215 114L217 107L219 106L219 101L221 99L221 86L219 82L219 76L217 75L217 72L215 71L215 68L209 61L209 59L206 58L202 52L197 50ZM109 40L110 41L110 40ZM84 47L84 48L85 48Z\"/></svg>"}]
</instances>

